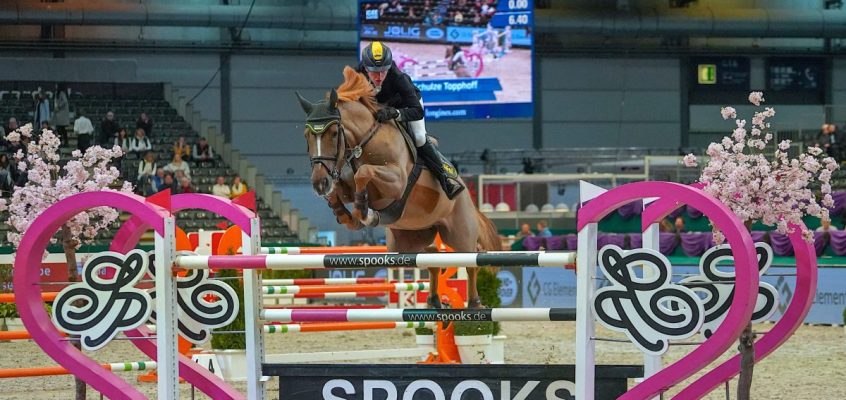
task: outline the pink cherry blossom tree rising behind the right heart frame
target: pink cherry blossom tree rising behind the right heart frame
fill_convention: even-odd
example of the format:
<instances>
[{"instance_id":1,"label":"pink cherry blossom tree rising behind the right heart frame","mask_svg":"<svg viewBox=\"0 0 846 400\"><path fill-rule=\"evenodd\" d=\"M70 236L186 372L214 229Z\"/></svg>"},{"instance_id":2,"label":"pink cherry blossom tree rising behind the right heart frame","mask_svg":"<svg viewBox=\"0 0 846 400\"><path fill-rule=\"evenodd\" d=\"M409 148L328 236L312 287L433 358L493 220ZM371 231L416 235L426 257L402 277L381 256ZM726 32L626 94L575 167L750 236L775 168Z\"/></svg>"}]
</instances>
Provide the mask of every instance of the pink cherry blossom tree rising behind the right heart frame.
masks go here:
<instances>
[{"instance_id":1,"label":"pink cherry blossom tree rising behind the right heart frame","mask_svg":"<svg viewBox=\"0 0 846 400\"><path fill-rule=\"evenodd\" d=\"M760 107L764 102L763 93L750 93L749 102ZM813 232L801 224L802 218L810 215L829 220L827 207L834 206L831 174L839 167L837 161L817 146L808 147L794 158L788 155L789 140L773 146L767 122L775 115L771 107L754 113L749 130L746 120L739 119L734 108L724 107L720 113L723 119L733 119L736 127L731 136L708 146L708 162L699 177L705 184L702 190L726 204L747 226L760 221L775 226L776 231L783 234L793 233L796 226L801 226L805 240L813 242ZM697 159L688 154L684 164L696 167ZM717 243L724 240L716 227L714 239ZM740 336L739 400L749 399L755 362L754 341L749 323Z\"/></svg>"}]
</instances>

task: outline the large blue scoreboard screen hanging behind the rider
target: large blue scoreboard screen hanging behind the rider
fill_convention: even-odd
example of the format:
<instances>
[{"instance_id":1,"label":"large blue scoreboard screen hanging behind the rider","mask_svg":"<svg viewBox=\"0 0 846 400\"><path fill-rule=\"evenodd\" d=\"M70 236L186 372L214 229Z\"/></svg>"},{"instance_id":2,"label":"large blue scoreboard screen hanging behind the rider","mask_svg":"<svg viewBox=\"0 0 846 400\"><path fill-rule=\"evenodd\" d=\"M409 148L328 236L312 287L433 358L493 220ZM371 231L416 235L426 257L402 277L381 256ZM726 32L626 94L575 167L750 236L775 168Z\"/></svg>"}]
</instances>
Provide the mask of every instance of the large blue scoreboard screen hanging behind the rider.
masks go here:
<instances>
[{"instance_id":1,"label":"large blue scoreboard screen hanging behind the rider","mask_svg":"<svg viewBox=\"0 0 846 400\"><path fill-rule=\"evenodd\" d=\"M429 120L531 118L533 0L359 0L359 49L391 48Z\"/></svg>"}]
</instances>

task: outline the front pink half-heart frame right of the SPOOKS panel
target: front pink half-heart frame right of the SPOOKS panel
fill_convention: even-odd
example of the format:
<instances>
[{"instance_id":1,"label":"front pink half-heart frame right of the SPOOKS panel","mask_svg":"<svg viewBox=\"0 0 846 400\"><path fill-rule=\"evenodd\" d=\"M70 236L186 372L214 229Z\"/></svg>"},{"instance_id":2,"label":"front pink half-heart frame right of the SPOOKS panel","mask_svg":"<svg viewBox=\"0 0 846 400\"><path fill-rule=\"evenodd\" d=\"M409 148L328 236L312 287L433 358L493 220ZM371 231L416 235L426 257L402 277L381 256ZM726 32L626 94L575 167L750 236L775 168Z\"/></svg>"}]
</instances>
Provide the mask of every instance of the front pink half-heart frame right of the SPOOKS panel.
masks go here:
<instances>
[{"instance_id":1,"label":"front pink half-heart frame right of the SPOOKS panel","mask_svg":"<svg viewBox=\"0 0 846 400\"><path fill-rule=\"evenodd\" d=\"M608 213L638 199L658 197L678 204L690 204L702 211L726 236L736 267L737 290L725 321L702 345L675 363L658 371L620 396L624 400L646 400L678 384L717 359L740 336L755 309L758 295L758 257L752 237L734 213L719 200L696 188L670 182L635 182L616 187L585 204L578 215L578 230L599 222ZM644 215L647 225L654 219Z\"/></svg>"}]
</instances>

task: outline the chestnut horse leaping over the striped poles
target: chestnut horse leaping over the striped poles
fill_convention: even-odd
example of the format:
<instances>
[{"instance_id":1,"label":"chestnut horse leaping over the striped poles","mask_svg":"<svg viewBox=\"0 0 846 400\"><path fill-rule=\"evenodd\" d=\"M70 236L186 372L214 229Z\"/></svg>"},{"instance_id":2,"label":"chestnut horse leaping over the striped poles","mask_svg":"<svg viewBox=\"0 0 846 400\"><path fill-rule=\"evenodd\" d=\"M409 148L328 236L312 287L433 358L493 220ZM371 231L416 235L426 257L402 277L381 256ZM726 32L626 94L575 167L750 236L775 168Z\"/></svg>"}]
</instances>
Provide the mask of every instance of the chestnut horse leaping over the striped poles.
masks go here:
<instances>
[{"instance_id":1,"label":"chestnut horse leaping over the striped poles","mask_svg":"<svg viewBox=\"0 0 846 400\"><path fill-rule=\"evenodd\" d=\"M500 250L493 223L473 205L468 191L449 200L428 170L416 165L395 122L379 123L373 88L344 68L344 83L311 103L297 93L306 113L305 139L314 191L329 202L339 223L351 230L382 225L389 251L419 253L435 234L457 252ZM353 203L352 213L346 203ZM438 269L430 268L430 293L438 292ZM468 307L482 307L478 268L468 269ZM429 304L441 307L438 296Z\"/></svg>"}]
</instances>

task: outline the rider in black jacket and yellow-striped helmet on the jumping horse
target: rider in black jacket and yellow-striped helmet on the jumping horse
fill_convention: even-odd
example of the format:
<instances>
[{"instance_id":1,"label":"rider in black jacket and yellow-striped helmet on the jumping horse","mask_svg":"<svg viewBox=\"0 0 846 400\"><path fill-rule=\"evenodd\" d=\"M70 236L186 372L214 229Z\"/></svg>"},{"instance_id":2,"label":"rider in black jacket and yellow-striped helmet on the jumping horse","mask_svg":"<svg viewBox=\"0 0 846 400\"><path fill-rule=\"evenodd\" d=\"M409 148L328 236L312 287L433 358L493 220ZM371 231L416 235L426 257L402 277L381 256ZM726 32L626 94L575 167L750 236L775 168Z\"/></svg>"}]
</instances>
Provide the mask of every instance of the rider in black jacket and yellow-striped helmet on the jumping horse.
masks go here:
<instances>
[{"instance_id":1,"label":"rider in black jacket and yellow-striped helmet on the jumping horse","mask_svg":"<svg viewBox=\"0 0 846 400\"><path fill-rule=\"evenodd\" d=\"M441 183L447 197L454 198L464 186L458 181L455 168L426 140L426 122L420 90L414 86L408 75L397 68L391 49L381 42L368 44L361 51L358 72L367 76L376 89L376 101L384 105L384 108L376 112L376 119L379 122L396 120L407 123L417 147L417 155Z\"/></svg>"}]
</instances>

